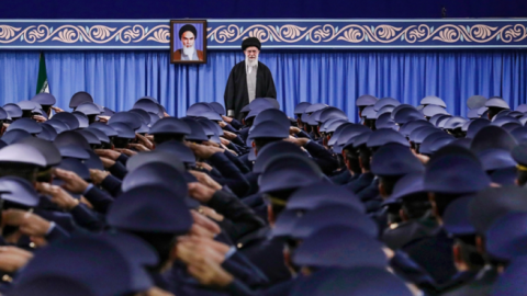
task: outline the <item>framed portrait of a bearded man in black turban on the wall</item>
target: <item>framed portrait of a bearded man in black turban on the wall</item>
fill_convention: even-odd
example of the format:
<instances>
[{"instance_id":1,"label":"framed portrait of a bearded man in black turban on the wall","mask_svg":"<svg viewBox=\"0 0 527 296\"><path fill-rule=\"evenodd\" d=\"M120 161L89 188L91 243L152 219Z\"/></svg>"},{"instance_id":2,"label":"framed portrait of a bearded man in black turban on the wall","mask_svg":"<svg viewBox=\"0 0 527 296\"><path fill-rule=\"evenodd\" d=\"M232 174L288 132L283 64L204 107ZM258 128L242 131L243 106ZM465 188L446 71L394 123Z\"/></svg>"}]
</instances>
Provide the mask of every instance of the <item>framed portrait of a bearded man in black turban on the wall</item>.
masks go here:
<instances>
[{"instance_id":1,"label":"framed portrait of a bearded man in black turban on the wall","mask_svg":"<svg viewBox=\"0 0 527 296\"><path fill-rule=\"evenodd\" d=\"M206 64L206 20L170 21L170 62Z\"/></svg>"}]
</instances>

